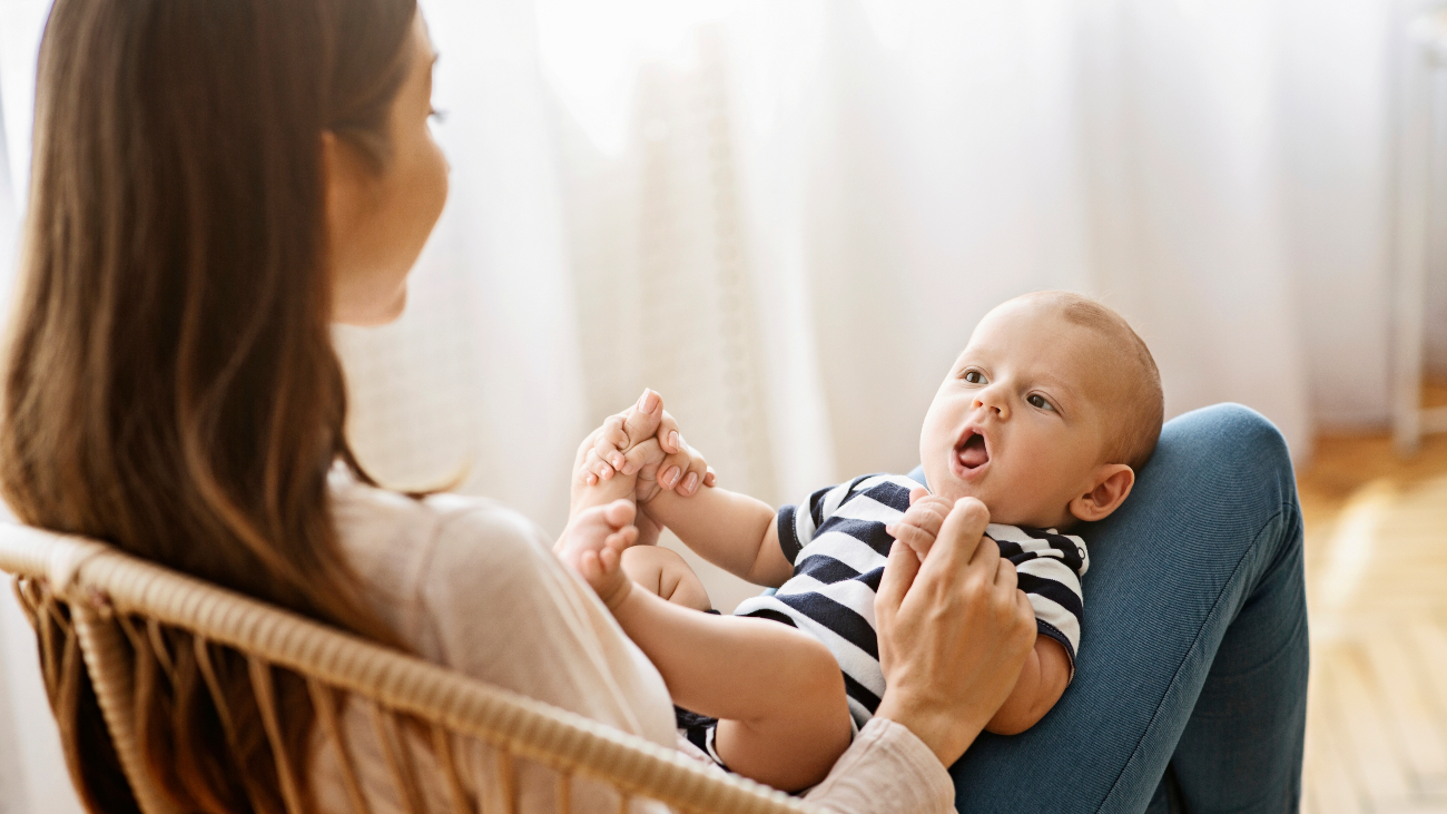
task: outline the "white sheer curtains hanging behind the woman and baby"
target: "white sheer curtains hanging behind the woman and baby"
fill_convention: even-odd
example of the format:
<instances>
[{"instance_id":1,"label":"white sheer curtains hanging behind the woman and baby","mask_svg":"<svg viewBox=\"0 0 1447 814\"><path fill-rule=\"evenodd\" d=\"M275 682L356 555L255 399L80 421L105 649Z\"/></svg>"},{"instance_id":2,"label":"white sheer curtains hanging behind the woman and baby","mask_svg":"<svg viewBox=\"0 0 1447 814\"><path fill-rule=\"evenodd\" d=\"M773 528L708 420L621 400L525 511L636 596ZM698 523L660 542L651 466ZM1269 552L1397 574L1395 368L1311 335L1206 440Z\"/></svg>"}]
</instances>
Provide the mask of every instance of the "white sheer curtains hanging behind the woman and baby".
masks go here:
<instances>
[{"instance_id":1,"label":"white sheer curtains hanging behind the woman and baby","mask_svg":"<svg viewBox=\"0 0 1447 814\"><path fill-rule=\"evenodd\" d=\"M572 448L650 385L726 484L797 500L910 468L974 323L1043 287L1130 317L1172 414L1243 401L1298 456L1318 426L1383 424L1393 87L1422 6L423 0L453 193L407 316L339 332L359 452L557 532ZM17 190L45 7L0 0ZM752 589L708 579L724 608ZM0 607L0 814L72 810Z\"/></svg>"}]
</instances>

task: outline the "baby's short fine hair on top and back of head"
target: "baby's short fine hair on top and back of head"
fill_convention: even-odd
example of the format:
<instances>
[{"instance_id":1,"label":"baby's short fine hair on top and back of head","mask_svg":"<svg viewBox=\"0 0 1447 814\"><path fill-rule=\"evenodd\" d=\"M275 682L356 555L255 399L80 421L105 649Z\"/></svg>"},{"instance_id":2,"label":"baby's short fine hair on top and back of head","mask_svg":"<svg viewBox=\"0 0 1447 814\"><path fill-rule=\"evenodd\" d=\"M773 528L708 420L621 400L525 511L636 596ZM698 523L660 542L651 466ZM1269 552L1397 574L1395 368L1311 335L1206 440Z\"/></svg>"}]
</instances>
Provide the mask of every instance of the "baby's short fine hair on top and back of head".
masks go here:
<instances>
[{"instance_id":1,"label":"baby's short fine hair on top and back of head","mask_svg":"<svg viewBox=\"0 0 1447 814\"><path fill-rule=\"evenodd\" d=\"M1165 420L1160 371L1150 349L1124 317L1104 304L1074 291L1036 291L1022 298L1045 300L1071 323L1088 327L1110 343L1121 364L1119 388L1113 394L1120 420L1106 440L1106 463L1126 463L1136 472L1150 461Z\"/></svg>"}]
</instances>

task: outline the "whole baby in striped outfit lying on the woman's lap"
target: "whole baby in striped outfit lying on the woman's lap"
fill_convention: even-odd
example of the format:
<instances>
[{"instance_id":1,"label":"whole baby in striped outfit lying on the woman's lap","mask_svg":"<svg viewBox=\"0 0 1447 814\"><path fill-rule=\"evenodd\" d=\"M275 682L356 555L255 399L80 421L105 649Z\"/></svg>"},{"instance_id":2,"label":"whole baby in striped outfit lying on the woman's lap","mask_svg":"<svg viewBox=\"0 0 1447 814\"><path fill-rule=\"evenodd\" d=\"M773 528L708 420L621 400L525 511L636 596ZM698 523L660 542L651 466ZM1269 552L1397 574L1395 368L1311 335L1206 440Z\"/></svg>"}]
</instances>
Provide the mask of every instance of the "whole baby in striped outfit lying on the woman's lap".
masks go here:
<instances>
[{"instance_id":1,"label":"whole baby in striped outfit lying on the woman's lap","mask_svg":"<svg viewBox=\"0 0 1447 814\"><path fill-rule=\"evenodd\" d=\"M661 404L645 397L640 410L661 414ZM709 610L708 594L674 552L615 534L560 553L674 700L697 711L680 713L690 740L744 776L805 788L823 779L884 692L874 592L890 546L899 540L923 559L959 498L990 511L985 534L1014 565L1039 632L987 729L1024 731L1055 705L1079 650L1079 578L1090 565L1084 540L1062 532L1120 507L1162 413L1155 361L1119 314L1078 294L1027 294L980 322L935 394L920 432L928 490L864 475L777 513L722 488L657 490L641 501L648 520L774 595L732 617L706 616L696 611ZM629 437L657 421L634 419L647 416L611 419L596 433L579 472L589 503L631 497L632 461L661 458L644 433Z\"/></svg>"}]
</instances>

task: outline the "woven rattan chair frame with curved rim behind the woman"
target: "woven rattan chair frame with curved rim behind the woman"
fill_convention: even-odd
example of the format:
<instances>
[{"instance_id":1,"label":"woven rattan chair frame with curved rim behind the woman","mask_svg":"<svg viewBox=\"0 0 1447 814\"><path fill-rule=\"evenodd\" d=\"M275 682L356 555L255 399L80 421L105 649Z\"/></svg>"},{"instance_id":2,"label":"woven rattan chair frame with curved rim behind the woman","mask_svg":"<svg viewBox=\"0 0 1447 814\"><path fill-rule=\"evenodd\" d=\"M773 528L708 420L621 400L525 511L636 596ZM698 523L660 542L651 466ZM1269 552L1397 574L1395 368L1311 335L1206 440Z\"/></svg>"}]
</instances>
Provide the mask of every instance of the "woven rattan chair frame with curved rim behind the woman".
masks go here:
<instances>
[{"instance_id":1,"label":"woven rattan chair frame with curved rim behind the woman","mask_svg":"<svg viewBox=\"0 0 1447 814\"><path fill-rule=\"evenodd\" d=\"M434 663L401 655L294 613L239 595L127 556L114 547L0 523L0 571L43 581L71 618L106 726L122 768L146 814L171 814L171 807L148 782L132 737L127 701L133 665L117 620L142 617L188 630L253 659L253 668L273 665L308 679L315 691L341 691L368 698L373 708L401 714L433 727L440 747L446 733L476 737L505 760L532 760L560 772L602 781L624 797L663 802L677 811L716 814L807 814L819 808L767 786L709 771L677 752L614 730L582 716L470 679ZM266 682L262 682L266 684ZM269 687L269 684L266 684ZM326 716L318 714L318 718ZM385 721L379 717L379 731ZM326 724L318 720L318 726ZM330 731L336 731L330 727ZM454 810L466 811L456 771L446 760ZM509 763L511 765L511 763ZM415 800L415 778L402 776L402 800ZM300 801L285 788L288 807ZM356 784L349 797L366 814ZM511 802L515 807L517 801ZM559 810L567 811L560 801ZM414 805L415 808L415 805ZM625 807L627 808L627 807Z\"/></svg>"}]
</instances>

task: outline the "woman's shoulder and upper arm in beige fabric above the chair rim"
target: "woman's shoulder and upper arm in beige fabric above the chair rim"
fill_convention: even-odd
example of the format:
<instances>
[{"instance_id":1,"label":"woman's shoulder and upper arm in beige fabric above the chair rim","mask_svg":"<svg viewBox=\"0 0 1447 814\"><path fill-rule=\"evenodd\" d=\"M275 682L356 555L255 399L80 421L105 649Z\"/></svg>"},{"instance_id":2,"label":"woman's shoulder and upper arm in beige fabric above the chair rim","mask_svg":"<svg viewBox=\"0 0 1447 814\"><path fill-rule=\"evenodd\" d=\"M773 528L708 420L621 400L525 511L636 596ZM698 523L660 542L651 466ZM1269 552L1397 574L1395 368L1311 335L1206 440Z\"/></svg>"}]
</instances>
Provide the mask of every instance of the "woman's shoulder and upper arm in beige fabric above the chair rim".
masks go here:
<instances>
[{"instance_id":1,"label":"woman's shoulder and upper arm in beige fabric above the chair rim","mask_svg":"<svg viewBox=\"0 0 1447 814\"><path fill-rule=\"evenodd\" d=\"M663 678L551 540L486 498L333 482L343 549L420 656L671 744Z\"/></svg>"}]
</instances>

